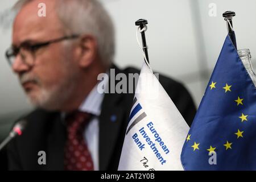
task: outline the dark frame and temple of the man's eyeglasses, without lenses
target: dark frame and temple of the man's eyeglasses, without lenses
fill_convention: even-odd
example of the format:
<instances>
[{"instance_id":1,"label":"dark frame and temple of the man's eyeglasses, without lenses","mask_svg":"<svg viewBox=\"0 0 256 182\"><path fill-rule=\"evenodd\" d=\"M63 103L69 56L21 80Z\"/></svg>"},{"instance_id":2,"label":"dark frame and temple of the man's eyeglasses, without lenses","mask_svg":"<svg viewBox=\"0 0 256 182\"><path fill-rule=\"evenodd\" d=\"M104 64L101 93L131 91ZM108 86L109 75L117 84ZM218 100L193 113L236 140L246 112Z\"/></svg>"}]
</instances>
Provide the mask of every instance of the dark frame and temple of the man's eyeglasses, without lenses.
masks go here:
<instances>
[{"instance_id":1,"label":"dark frame and temple of the man's eyeglasses, without lenses","mask_svg":"<svg viewBox=\"0 0 256 182\"><path fill-rule=\"evenodd\" d=\"M34 56L36 51L38 51L38 49L40 48L47 47L49 46L49 44L61 42L63 40L76 39L76 38L79 38L79 36L80 35L76 35L76 34L70 35L70 36L63 36L61 38L49 40L47 42L36 43L32 45L29 42L23 42L18 47L11 46L9 49L7 49L5 52L5 56L10 66L13 66L14 62L11 61L11 57L16 57L19 54L21 48L24 48L25 50L30 52L32 56ZM25 60L22 59L22 61L24 64L27 64ZM27 64L27 65L30 65L30 64Z\"/></svg>"}]
</instances>

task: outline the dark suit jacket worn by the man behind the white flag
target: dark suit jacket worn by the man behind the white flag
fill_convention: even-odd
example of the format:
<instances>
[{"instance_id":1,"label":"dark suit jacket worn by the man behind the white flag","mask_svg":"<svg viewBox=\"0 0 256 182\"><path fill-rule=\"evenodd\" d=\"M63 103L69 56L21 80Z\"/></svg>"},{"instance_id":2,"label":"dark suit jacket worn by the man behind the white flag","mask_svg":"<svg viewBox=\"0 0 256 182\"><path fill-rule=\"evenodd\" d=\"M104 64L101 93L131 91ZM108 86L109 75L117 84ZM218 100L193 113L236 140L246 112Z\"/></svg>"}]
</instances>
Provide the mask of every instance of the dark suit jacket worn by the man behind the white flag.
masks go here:
<instances>
[{"instance_id":1,"label":"dark suit jacket worn by the man behind the white flag","mask_svg":"<svg viewBox=\"0 0 256 182\"><path fill-rule=\"evenodd\" d=\"M115 74L139 73L138 69L115 67ZM159 75L159 81L190 126L196 113L188 91L179 82ZM134 94L105 94L100 115L100 170L116 170L121 155L127 120ZM110 120L112 115L117 120ZM11 170L63 170L66 131L59 112L36 109L24 117L28 121L23 135L7 148ZM46 165L38 164L38 152L46 151Z\"/></svg>"}]
</instances>

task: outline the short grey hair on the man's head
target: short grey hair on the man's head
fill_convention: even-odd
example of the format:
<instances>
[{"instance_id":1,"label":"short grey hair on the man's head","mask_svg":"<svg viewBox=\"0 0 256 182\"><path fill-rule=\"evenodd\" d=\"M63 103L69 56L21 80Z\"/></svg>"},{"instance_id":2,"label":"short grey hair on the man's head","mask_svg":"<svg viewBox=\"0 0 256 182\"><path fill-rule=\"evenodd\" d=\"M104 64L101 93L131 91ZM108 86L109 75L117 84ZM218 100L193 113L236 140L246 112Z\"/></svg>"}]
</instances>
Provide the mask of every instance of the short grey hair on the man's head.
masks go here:
<instances>
[{"instance_id":1,"label":"short grey hair on the man's head","mask_svg":"<svg viewBox=\"0 0 256 182\"><path fill-rule=\"evenodd\" d=\"M14 10L18 12L33 0L19 0ZM66 34L90 34L98 44L101 60L110 65L115 52L114 26L108 12L97 0L57 0L56 13Z\"/></svg>"}]
</instances>

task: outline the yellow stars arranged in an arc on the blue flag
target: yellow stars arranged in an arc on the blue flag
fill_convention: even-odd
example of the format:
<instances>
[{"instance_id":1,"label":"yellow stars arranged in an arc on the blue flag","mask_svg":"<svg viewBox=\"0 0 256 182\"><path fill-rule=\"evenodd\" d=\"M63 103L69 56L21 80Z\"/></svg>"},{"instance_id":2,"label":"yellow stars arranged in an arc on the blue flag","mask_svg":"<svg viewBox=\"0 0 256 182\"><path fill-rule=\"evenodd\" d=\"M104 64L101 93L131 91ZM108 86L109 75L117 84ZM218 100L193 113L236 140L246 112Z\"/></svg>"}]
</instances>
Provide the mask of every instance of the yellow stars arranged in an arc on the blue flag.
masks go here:
<instances>
[{"instance_id":1,"label":"yellow stars arranged in an arc on the blue flag","mask_svg":"<svg viewBox=\"0 0 256 182\"><path fill-rule=\"evenodd\" d=\"M217 82L213 82L209 85L210 90L212 89L216 89L216 84ZM225 90L225 93L227 92L231 92L231 88L232 85L228 85L228 83L226 83L226 85L223 87L223 89ZM237 106L239 105L243 105L243 98L240 98L240 96L237 97L237 100L234 100L235 102L237 102ZM243 121L248 121L247 120L248 115L245 114L241 114L241 116L239 117L241 119L241 122ZM235 135L237 135L237 139L238 138L243 138L243 131L240 131L239 129L237 130L237 133L234 133ZM191 140L191 134L188 134L187 138L186 138L187 142L189 140ZM193 151L199 150L199 145L200 143L194 142L194 144L191 146L193 148ZM225 147L226 150L231 150L232 149L232 142L229 142L228 140L226 140L226 143L223 144L223 146ZM209 152L215 152L216 147L210 146L207 151Z\"/></svg>"}]
</instances>

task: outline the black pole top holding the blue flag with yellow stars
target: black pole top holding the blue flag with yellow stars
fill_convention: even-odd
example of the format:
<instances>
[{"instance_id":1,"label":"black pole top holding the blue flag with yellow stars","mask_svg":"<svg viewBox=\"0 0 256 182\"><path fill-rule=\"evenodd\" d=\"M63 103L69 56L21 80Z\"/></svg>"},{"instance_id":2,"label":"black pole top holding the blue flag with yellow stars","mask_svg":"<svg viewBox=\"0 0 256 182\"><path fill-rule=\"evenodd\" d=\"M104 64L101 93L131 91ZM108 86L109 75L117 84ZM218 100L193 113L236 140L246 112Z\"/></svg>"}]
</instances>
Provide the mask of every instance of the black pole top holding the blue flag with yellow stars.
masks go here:
<instances>
[{"instance_id":1,"label":"black pole top holding the blue flag with yellow stars","mask_svg":"<svg viewBox=\"0 0 256 182\"><path fill-rule=\"evenodd\" d=\"M230 39L232 40L234 47L237 49L237 41L236 41L236 35L234 33L233 29L233 23L232 18L233 16L236 16L236 13L234 11L225 11L222 16L224 17L224 20L226 20L226 26L228 27L228 33L230 36Z\"/></svg>"}]
</instances>

